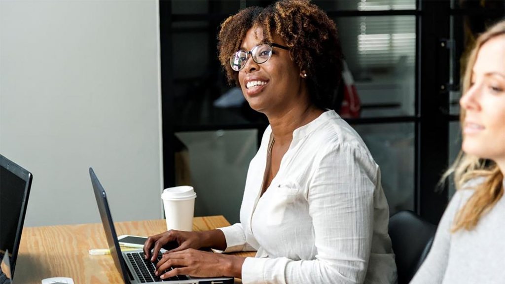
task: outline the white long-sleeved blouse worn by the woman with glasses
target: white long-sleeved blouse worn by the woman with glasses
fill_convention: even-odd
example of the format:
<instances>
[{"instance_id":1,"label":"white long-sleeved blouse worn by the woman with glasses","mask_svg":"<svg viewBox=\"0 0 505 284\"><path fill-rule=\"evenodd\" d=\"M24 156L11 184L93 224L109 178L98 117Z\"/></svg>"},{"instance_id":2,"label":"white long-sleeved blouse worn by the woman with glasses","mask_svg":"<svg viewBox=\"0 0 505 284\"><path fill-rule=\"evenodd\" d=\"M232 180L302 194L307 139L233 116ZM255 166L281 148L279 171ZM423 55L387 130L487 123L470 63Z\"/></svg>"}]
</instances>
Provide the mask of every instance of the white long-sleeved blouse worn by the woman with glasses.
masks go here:
<instances>
[{"instance_id":1,"label":"white long-sleeved blouse worn by the woman with glasses","mask_svg":"<svg viewBox=\"0 0 505 284\"><path fill-rule=\"evenodd\" d=\"M389 209L365 143L334 111L293 131L260 197L272 129L251 160L240 223L220 228L232 251L256 250L247 283L394 283Z\"/></svg>"}]
</instances>

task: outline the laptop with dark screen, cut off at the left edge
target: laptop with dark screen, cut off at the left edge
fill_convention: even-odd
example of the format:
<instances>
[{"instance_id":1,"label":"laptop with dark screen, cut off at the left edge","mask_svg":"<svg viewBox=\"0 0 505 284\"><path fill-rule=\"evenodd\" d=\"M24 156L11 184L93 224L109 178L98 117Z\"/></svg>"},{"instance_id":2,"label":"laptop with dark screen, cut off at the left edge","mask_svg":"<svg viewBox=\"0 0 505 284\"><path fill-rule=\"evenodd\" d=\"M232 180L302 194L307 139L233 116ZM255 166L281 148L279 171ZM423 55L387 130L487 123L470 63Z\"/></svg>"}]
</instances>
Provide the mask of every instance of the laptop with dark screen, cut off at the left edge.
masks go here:
<instances>
[{"instance_id":1,"label":"laptop with dark screen, cut off at the left edge","mask_svg":"<svg viewBox=\"0 0 505 284\"><path fill-rule=\"evenodd\" d=\"M0 155L0 259L10 258L14 278L32 174ZM9 252L7 252L9 251Z\"/></svg>"}]
</instances>

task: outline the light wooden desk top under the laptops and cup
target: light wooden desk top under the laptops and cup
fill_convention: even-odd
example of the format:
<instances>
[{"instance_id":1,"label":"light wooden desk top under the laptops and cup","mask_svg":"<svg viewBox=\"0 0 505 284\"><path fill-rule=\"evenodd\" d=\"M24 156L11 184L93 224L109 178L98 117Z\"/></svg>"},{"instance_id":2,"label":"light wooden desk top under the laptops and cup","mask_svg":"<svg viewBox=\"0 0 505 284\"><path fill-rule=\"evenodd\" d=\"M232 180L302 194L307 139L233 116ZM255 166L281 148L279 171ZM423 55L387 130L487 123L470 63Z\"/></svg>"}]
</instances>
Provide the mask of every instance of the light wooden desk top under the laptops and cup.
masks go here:
<instances>
[{"instance_id":1,"label":"light wooden desk top under the laptops and cup","mask_svg":"<svg viewBox=\"0 0 505 284\"><path fill-rule=\"evenodd\" d=\"M118 235L153 235L166 230L165 220L117 222ZM196 217L193 230L229 225L223 216ZM111 255L89 255L108 248L102 223L25 227L21 236L14 284L40 284L48 277L71 277L76 284L123 283ZM237 253L254 257L255 253ZM237 281L238 282L238 281Z\"/></svg>"}]
</instances>

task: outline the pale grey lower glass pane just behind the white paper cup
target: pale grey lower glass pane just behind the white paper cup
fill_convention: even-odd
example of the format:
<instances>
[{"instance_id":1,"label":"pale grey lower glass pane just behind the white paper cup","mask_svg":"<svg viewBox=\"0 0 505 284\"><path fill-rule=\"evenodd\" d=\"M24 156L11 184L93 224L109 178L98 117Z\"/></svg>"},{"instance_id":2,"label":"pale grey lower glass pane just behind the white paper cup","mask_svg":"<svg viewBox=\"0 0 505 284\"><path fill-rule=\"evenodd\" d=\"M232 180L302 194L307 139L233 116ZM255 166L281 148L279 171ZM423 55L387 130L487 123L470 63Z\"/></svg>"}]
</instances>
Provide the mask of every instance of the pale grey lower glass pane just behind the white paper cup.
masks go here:
<instances>
[{"instance_id":1,"label":"pale grey lower glass pane just behind the white paper cup","mask_svg":"<svg viewBox=\"0 0 505 284\"><path fill-rule=\"evenodd\" d=\"M195 216L224 215L238 222L249 162L258 149L258 131L177 132L184 147L176 154L180 184L193 185Z\"/></svg>"}]
</instances>

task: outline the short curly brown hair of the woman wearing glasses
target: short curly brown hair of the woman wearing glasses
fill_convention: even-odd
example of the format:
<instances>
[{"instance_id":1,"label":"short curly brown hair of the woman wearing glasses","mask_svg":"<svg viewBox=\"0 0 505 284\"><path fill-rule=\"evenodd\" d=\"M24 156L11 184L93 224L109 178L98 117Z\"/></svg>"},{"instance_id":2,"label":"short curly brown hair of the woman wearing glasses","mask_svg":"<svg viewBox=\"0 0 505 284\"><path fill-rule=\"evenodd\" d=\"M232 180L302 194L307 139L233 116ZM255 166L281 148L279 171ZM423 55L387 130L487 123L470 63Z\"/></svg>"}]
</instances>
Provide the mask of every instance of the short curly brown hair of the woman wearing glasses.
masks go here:
<instances>
[{"instance_id":1,"label":"short curly brown hair of the woman wearing glasses","mask_svg":"<svg viewBox=\"0 0 505 284\"><path fill-rule=\"evenodd\" d=\"M230 84L240 85L238 72L230 66L230 56L239 50L252 27L262 27L266 41L272 42L273 34L285 41L291 60L309 75L306 82L311 102L319 108L331 108L343 56L337 27L328 15L309 0L281 0L228 17L221 24L218 51Z\"/></svg>"}]
</instances>

